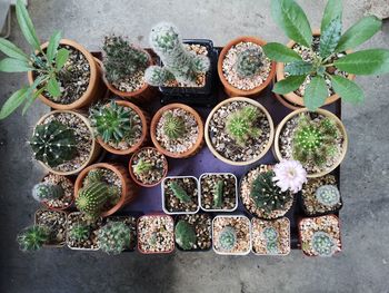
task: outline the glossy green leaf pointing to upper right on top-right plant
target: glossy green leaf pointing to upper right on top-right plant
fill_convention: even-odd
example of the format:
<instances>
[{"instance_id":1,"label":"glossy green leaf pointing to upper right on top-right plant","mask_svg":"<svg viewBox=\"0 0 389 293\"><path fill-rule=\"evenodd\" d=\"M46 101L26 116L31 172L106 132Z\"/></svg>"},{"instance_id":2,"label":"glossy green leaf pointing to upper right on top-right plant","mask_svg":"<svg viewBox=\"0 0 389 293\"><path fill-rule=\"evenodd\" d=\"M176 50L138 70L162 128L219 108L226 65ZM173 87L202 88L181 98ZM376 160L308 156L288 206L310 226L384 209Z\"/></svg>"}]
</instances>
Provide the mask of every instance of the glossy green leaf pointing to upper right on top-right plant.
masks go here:
<instances>
[{"instance_id":1,"label":"glossy green leaf pointing to upper right on top-right plant","mask_svg":"<svg viewBox=\"0 0 389 293\"><path fill-rule=\"evenodd\" d=\"M382 21L377 17L362 18L341 36L336 51L341 52L356 48L375 36L381 29L381 26Z\"/></svg>"}]
</instances>

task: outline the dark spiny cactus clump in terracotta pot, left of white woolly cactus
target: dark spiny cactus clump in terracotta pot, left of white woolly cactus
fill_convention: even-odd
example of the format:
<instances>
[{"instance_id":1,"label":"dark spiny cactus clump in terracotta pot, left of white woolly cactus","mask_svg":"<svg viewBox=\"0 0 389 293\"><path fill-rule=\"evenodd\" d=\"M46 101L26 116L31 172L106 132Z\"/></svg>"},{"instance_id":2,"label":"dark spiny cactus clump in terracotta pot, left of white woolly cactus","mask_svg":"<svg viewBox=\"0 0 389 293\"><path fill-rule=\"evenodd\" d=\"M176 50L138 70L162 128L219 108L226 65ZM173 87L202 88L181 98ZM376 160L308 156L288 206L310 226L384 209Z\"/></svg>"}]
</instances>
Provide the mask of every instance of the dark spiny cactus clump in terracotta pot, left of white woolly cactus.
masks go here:
<instances>
[{"instance_id":1,"label":"dark spiny cactus clump in terracotta pot, left of white woolly cactus","mask_svg":"<svg viewBox=\"0 0 389 293\"><path fill-rule=\"evenodd\" d=\"M106 36L102 46L103 80L114 95L134 101L149 100L154 94L144 81L151 56L122 36Z\"/></svg>"}]
</instances>

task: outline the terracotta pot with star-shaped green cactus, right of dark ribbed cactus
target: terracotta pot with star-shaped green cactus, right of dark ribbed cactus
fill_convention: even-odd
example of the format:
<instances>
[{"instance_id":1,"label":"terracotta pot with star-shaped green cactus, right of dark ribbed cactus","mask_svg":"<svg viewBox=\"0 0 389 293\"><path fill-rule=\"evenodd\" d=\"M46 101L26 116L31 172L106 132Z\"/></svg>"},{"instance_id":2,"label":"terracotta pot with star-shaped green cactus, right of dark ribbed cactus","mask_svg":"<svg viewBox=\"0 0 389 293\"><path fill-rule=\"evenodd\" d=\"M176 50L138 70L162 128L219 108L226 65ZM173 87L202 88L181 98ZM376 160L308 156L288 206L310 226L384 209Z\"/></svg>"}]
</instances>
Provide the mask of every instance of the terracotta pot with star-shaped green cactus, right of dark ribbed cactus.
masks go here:
<instances>
[{"instance_id":1,"label":"terracotta pot with star-shaped green cactus, right of dark ribbed cactus","mask_svg":"<svg viewBox=\"0 0 389 293\"><path fill-rule=\"evenodd\" d=\"M128 155L148 140L149 115L126 100L90 108L90 124L99 144L109 153Z\"/></svg>"}]
</instances>

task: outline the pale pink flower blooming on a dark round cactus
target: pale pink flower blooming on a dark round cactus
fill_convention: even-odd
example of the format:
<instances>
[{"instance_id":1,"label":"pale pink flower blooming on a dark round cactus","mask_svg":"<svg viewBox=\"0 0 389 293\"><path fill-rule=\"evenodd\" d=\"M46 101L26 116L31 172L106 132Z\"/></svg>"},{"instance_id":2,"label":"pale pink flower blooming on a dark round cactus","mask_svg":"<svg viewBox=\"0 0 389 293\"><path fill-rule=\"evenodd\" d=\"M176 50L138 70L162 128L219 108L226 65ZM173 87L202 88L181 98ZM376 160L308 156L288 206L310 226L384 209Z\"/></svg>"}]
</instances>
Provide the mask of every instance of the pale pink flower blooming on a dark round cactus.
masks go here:
<instances>
[{"instance_id":1,"label":"pale pink flower blooming on a dark round cactus","mask_svg":"<svg viewBox=\"0 0 389 293\"><path fill-rule=\"evenodd\" d=\"M275 166L273 172L276 176L272 180L282 192L290 189L296 194L301 191L302 184L307 183L307 172L298 160L282 159Z\"/></svg>"}]
</instances>

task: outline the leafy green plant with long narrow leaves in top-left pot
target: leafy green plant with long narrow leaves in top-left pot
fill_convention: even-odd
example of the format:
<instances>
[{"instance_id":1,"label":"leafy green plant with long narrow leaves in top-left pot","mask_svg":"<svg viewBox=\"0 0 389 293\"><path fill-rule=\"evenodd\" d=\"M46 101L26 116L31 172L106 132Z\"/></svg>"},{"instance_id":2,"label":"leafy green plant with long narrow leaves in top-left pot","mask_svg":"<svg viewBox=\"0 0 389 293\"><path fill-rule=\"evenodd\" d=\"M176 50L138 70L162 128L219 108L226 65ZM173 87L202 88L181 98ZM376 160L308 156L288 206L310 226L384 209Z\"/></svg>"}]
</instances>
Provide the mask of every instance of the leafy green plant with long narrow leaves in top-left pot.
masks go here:
<instances>
[{"instance_id":1,"label":"leafy green plant with long narrow leaves in top-left pot","mask_svg":"<svg viewBox=\"0 0 389 293\"><path fill-rule=\"evenodd\" d=\"M60 31L52 33L47 50L42 50L37 37L36 29L23 1L17 1L17 18L19 27L31 46L32 53L24 53L14 43L0 38L0 51L8 57L0 61L0 71L3 72L27 72L32 71L37 78L30 86L23 86L11 95L0 110L0 119L7 118L21 104L24 102L22 114L43 91L53 99L61 96L59 76L67 71L64 64L69 58L69 50L59 48L62 35Z\"/></svg>"}]
</instances>

